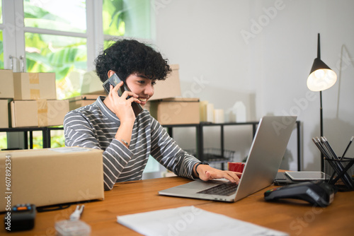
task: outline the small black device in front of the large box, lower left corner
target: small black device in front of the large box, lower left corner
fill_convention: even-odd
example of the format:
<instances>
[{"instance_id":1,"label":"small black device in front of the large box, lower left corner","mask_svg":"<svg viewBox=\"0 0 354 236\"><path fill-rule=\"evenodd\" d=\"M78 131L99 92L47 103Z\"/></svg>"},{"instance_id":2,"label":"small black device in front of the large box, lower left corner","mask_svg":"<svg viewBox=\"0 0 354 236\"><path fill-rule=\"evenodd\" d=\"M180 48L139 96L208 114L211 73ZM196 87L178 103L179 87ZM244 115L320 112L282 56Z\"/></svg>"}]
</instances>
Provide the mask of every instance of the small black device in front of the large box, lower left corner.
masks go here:
<instances>
[{"instance_id":1,"label":"small black device in front of the large box, lower left corner","mask_svg":"<svg viewBox=\"0 0 354 236\"><path fill-rule=\"evenodd\" d=\"M35 205L17 204L4 216L5 229L7 232L32 230L35 226Z\"/></svg>"}]
</instances>

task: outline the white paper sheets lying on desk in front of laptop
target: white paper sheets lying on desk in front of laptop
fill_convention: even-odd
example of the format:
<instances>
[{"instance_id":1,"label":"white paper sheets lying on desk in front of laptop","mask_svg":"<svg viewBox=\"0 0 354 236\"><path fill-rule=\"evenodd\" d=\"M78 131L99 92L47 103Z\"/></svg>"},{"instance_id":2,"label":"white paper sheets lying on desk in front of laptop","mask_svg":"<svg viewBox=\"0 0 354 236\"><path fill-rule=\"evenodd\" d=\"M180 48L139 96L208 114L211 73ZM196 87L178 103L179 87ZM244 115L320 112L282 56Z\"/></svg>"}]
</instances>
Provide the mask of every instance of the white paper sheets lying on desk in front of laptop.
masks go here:
<instances>
[{"instance_id":1,"label":"white paper sheets lying on desk in front of laptop","mask_svg":"<svg viewBox=\"0 0 354 236\"><path fill-rule=\"evenodd\" d=\"M183 206L117 216L118 223L142 235L287 235L228 216Z\"/></svg>"}]
</instances>

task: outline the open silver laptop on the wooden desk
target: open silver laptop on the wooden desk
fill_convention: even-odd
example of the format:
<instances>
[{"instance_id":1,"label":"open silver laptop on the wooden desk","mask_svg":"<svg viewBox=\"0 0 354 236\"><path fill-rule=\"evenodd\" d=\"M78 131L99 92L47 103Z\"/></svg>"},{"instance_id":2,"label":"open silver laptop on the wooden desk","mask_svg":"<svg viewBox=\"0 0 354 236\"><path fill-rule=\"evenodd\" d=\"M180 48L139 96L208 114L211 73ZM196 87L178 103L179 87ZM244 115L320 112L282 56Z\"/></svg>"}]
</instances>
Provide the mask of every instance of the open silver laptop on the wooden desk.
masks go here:
<instances>
[{"instance_id":1,"label":"open silver laptop on the wooden desk","mask_svg":"<svg viewBox=\"0 0 354 236\"><path fill-rule=\"evenodd\" d=\"M296 119L295 116L262 117L238 185L226 179L207 182L198 179L188 184L161 190L159 194L232 202L270 186L278 173ZM225 187L229 190L222 190L222 193L215 192Z\"/></svg>"}]
</instances>

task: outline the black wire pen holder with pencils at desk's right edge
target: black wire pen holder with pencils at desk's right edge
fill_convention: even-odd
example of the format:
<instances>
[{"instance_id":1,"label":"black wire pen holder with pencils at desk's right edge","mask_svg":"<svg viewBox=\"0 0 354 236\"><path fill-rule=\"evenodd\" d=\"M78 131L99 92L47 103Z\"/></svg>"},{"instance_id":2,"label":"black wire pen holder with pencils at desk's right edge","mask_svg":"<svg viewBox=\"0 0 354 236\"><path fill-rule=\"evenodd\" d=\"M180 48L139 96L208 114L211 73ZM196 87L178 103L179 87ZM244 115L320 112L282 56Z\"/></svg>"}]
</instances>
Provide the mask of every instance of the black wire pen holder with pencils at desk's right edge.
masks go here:
<instances>
[{"instance_id":1,"label":"black wire pen holder with pencils at desk's right edge","mask_svg":"<svg viewBox=\"0 0 354 236\"><path fill-rule=\"evenodd\" d=\"M326 161L325 172L330 176L329 184L335 185L339 191L354 190L354 158L346 158L346 152L353 142L354 136L350 138L348 146L342 156L336 155L326 137L312 138L319 151L324 155Z\"/></svg>"}]
</instances>

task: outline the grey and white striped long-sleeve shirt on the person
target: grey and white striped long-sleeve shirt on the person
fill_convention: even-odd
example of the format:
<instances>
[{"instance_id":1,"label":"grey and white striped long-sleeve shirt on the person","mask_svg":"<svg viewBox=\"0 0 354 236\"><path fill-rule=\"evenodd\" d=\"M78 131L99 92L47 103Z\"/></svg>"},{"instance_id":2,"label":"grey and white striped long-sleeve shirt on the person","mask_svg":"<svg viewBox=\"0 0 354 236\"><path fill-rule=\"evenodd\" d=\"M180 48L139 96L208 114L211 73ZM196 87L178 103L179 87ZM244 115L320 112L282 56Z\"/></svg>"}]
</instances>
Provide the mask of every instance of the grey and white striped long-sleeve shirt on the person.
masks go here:
<instances>
[{"instance_id":1,"label":"grey and white striped long-sleeve shirt on the person","mask_svg":"<svg viewBox=\"0 0 354 236\"><path fill-rule=\"evenodd\" d=\"M115 182L142 179L152 155L176 175L193 179L193 166L200 161L183 151L147 110L141 112L132 129L130 147L115 139L120 120L103 103L104 97L67 113L64 118L65 146L103 150L105 190Z\"/></svg>"}]
</instances>

